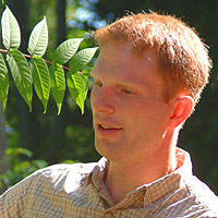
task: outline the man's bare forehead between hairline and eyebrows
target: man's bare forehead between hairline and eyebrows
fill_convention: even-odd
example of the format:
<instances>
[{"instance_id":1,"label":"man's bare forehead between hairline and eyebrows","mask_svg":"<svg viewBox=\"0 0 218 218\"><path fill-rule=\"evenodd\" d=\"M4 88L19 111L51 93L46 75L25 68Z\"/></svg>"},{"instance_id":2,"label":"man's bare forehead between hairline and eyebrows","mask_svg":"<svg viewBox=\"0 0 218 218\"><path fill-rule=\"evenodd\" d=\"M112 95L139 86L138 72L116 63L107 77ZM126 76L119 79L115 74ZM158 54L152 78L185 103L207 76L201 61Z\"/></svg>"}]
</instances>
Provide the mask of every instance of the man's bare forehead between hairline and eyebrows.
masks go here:
<instances>
[{"instance_id":1,"label":"man's bare forehead between hairline and eyebrows","mask_svg":"<svg viewBox=\"0 0 218 218\"><path fill-rule=\"evenodd\" d=\"M149 49L138 57L133 53L130 44L106 44L100 50L92 75L100 80L160 85L155 51Z\"/></svg>"}]
</instances>

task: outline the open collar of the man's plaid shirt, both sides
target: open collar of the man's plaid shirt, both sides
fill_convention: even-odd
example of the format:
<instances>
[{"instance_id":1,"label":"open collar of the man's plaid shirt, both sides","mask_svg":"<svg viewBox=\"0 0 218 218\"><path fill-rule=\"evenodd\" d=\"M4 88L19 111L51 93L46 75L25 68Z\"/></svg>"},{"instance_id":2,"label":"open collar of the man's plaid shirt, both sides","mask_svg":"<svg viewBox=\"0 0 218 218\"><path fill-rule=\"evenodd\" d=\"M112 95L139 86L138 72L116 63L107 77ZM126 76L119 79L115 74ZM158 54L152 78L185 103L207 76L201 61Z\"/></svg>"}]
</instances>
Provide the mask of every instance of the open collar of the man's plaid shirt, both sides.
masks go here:
<instances>
[{"instance_id":1,"label":"open collar of the man's plaid shirt, both sides","mask_svg":"<svg viewBox=\"0 0 218 218\"><path fill-rule=\"evenodd\" d=\"M150 205L154 207L154 202L161 199L164 196L167 197L169 193L178 190L192 177L192 162L189 153L181 148L177 148L177 160L178 168L175 171L132 191L134 195L136 193L144 194L144 206L149 207ZM105 190L104 179L108 170L108 165L109 161L102 157L89 174L87 184L93 183L97 190Z\"/></svg>"}]
</instances>

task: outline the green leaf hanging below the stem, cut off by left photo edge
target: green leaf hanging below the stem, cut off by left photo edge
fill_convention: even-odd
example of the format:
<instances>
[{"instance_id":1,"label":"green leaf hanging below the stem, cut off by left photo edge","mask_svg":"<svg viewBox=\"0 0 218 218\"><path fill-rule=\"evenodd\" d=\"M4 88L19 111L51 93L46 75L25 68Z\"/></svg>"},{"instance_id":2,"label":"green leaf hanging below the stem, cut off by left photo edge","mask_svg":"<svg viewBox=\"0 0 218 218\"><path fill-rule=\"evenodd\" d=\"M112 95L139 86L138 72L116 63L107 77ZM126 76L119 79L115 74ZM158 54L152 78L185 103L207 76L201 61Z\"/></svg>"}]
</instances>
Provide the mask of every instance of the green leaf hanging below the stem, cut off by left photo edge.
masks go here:
<instances>
[{"instance_id":1,"label":"green leaf hanging below the stem, cut off by left photo edge","mask_svg":"<svg viewBox=\"0 0 218 218\"><path fill-rule=\"evenodd\" d=\"M0 53L0 100L3 105L3 109L7 106L7 98L9 93L9 74L2 55Z\"/></svg>"}]
</instances>

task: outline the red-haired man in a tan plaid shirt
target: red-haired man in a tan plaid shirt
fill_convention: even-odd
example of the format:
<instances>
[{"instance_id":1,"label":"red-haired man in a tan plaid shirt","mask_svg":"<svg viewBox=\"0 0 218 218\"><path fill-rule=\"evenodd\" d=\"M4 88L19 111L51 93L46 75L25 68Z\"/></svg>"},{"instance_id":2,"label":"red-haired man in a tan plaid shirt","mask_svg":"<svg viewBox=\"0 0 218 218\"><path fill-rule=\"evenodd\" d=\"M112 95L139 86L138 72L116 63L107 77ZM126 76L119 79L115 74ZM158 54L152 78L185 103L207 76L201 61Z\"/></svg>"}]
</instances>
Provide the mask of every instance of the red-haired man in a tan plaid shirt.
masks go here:
<instances>
[{"instance_id":1,"label":"red-haired man in a tan plaid shirt","mask_svg":"<svg viewBox=\"0 0 218 218\"><path fill-rule=\"evenodd\" d=\"M180 129L211 66L181 21L125 16L95 33L92 72L97 164L41 169L0 197L0 217L218 217L218 197L192 174Z\"/></svg>"}]
</instances>

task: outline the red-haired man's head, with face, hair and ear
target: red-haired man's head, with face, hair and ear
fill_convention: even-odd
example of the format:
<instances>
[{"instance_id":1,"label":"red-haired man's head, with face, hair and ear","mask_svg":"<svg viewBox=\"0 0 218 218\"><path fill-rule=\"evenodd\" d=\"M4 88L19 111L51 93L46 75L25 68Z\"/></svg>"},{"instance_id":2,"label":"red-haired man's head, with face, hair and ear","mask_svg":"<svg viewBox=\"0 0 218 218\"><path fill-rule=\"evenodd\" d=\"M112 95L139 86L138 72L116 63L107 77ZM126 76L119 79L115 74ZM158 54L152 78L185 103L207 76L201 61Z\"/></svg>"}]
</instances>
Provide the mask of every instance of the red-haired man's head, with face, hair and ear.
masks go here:
<instances>
[{"instance_id":1,"label":"red-haired man's head, with face, hair and ear","mask_svg":"<svg viewBox=\"0 0 218 218\"><path fill-rule=\"evenodd\" d=\"M123 17L95 38L100 55L90 104L97 150L125 165L164 162L208 82L204 44L182 22L154 13Z\"/></svg>"}]
</instances>

